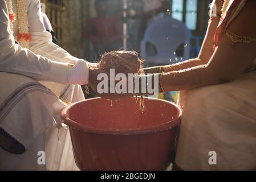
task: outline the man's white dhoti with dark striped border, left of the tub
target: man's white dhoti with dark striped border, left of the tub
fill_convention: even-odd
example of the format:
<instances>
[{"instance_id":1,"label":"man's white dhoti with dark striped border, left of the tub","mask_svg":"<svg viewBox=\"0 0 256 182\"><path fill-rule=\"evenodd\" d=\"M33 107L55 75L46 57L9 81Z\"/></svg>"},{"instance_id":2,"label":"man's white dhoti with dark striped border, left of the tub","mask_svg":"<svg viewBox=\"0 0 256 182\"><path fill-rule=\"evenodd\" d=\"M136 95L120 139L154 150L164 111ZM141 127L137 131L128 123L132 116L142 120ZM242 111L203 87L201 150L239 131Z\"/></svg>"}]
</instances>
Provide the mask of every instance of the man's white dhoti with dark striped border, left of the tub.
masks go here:
<instances>
[{"instance_id":1,"label":"man's white dhoti with dark striped border, left of the tub","mask_svg":"<svg viewBox=\"0 0 256 182\"><path fill-rule=\"evenodd\" d=\"M29 77L0 72L0 84L0 128L26 149L15 155L0 147L0 170L78 170L67 126L59 133L56 127L62 125L66 104ZM79 85L66 86L60 94L68 102L84 100Z\"/></svg>"}]
</instances>

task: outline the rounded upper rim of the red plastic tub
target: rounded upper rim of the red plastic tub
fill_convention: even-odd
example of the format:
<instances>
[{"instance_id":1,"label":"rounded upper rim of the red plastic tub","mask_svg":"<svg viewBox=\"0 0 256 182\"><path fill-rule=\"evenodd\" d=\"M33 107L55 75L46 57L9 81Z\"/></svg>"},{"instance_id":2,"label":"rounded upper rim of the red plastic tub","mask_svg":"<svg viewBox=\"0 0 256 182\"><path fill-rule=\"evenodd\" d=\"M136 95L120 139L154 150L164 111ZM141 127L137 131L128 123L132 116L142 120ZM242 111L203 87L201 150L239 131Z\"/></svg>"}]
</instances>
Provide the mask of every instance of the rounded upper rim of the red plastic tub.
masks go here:
<instances>
[{"instance_id":1,"label":"rounded upper rim of the red plastic tub","mask_svg":"<svg viewBox=\"0 0 256 182\"><path fill-rule=\"evenodd\" d=\"M176 107L179 111L178 117L175 119L172 119L168 122L162 123L161 125L156 125L156 126L149 126L149 127L144 127L143 129L135 128L135 129L96 129L95 127L87 126L78 122L73 121L72 119L67 117L67 110L70 109L72 106L78 105L82 102L88 102L92 100L99 100L99 99L104 99L101 97L96 97L96 98L90 98L84 101L80 102L75 102L74 104L71 104L70 106L67 106L65 109L63 109L61 113L61 118L62 121L68 126L72 127L73 129L80 130L80 131L85 131L87 133L94 133L94 134L109 134L109 135L135 135L135 134L147 134L147 133L157 133L160 131L164 130L169 130L172 129L173 127L178 126L181 123L181 114L182 110L180 107L178 107L176 104L173 104L172 102L165 101L165 100L160 100L158 98L151 98L151 97L144 97L147 98L148 100L159 100L161 102L166 102L167 104L171 104L174 107Z\"/></svg>"}]
</instances>

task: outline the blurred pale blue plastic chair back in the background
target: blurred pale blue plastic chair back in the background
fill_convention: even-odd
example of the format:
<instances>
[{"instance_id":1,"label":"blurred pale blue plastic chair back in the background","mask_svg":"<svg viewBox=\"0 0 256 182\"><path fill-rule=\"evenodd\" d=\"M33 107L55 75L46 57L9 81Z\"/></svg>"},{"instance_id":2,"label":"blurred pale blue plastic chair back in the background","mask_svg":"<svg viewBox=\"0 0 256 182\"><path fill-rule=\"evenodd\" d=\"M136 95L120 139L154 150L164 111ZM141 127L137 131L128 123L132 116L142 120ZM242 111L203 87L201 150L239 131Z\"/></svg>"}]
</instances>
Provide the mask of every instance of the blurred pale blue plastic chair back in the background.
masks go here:
<instances>
[{"instance_id":1,"label":"blurred pale blue plastic chair back in the background","mask_svg":"<svg viewBox=\"0 0 256 182\"><path fill-rule=\"evenodd\" d=\"M156 55L148 55L147 44L155 47ZM177 55L178 47L181 48L181 55ZM144 39L141 41L140 52L141 57L146 60L145 64L164 65L189 59L189 47L188 28L176 19L165 17L157 19L149 25Z\"/></svg>"}]
</instances>

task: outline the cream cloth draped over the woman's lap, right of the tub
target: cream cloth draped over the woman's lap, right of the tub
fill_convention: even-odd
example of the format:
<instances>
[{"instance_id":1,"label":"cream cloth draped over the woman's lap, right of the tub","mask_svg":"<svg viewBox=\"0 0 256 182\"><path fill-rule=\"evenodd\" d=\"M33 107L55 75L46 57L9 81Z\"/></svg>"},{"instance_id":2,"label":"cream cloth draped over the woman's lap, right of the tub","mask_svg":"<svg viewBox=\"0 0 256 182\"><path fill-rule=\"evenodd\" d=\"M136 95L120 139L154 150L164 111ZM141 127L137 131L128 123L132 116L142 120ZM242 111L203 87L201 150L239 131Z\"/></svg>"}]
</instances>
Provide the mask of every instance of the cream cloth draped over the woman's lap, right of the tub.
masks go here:
<instances>
[{"instance_id":1,"label":"cream cloth draped over the woman's lap, right of the tub","mask_svg":"<svg viewBox=\"0 0 256 182\"><path fill-rule=\"evenodd\" d=\"M177 166L184 170L256 169L256 71L226 84L181 92L180 102L184 110ZM210 151L216 152L216 164Z\"/></svg>"}]
</instances>

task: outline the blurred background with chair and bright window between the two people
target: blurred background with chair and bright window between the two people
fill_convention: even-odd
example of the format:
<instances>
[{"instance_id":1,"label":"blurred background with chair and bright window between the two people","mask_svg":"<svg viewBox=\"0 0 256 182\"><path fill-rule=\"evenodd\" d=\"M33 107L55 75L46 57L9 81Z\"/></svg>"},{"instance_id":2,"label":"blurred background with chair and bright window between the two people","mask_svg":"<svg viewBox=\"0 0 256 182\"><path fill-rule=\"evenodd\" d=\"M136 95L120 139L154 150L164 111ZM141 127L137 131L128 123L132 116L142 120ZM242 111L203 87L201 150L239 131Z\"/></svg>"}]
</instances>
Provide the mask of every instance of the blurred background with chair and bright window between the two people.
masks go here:
<instances>
[{"instance_id":1,"label":"blurred background with chair and bright window between the two people","mask_svg":"<svg viewBox=\"0 0 256 182\"><path fill-rule=\"evenodd\" d=\"M104 52L137 51L145 67L200 51L212 0L41 0L54 42L90 62ZM48 17L48 18L47 18ZM160 96L177 101L177 92Z\"/></svg>"}]
</instances>

